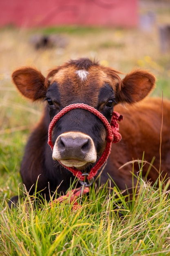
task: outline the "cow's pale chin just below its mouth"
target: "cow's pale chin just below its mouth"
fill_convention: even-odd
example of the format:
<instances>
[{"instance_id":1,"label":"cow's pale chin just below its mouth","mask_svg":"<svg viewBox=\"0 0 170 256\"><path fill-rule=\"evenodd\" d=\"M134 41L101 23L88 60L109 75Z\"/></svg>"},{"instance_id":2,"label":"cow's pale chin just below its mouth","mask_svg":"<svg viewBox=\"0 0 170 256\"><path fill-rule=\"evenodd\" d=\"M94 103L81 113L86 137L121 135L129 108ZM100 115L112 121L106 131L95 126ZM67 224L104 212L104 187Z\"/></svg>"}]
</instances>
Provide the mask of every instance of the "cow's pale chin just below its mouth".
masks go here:
<instances>
[{"instance_id":1,"label":"cow's pale chin just below its mouth","mask_svg":"<svg viewBox=\"0 0 170 256\"><path fill-rule=\"evenodd\" d=\"M92 163L82 161L82 160L77 160L77 159L64 159L64 160L60 160L60 163L67 167L75 167L80 171L83 171L84 169L86 169L86 167L89 164L92 164Z\"/></svg>"}]
</instances>

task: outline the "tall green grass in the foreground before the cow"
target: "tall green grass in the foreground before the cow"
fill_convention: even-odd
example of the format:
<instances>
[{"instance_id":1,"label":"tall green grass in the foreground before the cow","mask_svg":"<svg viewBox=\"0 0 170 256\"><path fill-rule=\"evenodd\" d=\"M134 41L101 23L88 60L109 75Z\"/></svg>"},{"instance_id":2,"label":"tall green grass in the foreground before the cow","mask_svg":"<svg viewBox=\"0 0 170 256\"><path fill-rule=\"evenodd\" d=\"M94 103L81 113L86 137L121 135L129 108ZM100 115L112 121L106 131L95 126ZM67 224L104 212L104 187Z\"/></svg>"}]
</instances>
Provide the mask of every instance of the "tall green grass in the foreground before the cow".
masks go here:
<instances>
[{"instance_id":1,"label":"tall green grass in the foreground before the cow","mask_svg":"<svg viewBox=\"0 0 170 256\"><path fill-rule=\"evenodd\" d=\"M0 206L1 255L170 255L170 198L162 186L141 182L131 202L116 188L108 195L91 188L77 210L69 199L52 207L26 200L11 211Z\"/></svg>"}]
</instances>

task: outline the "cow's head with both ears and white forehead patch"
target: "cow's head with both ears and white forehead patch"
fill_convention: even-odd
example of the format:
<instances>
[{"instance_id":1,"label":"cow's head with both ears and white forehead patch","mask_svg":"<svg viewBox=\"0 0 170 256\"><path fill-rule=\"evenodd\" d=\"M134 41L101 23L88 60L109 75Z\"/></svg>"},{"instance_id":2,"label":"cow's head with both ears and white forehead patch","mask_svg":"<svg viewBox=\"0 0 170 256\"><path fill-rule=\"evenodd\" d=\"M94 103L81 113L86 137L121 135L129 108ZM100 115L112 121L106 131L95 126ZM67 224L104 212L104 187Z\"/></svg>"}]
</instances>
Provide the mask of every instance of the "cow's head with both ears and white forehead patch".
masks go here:
<instances>
[{"instance_id":1,"label":"cow's head with both ears and white forehead patch","mask_svg":"<svg viewBox=\"0 0 170 256\"><path fill-rule=\"evenodd\" d=\"M38 70L24 67L12 74L13 82L27 98L46 101L50 118L73 103L96 108L110 122L117 103L135 103L152 90L155 77L135 70L124 79L119 72L87 58L69 61L45 78ZM102 121L85 109L74 109L60 118L54 129L53 159L79 170L91 168L106 146Z\"/></svg>"}]
</instances>

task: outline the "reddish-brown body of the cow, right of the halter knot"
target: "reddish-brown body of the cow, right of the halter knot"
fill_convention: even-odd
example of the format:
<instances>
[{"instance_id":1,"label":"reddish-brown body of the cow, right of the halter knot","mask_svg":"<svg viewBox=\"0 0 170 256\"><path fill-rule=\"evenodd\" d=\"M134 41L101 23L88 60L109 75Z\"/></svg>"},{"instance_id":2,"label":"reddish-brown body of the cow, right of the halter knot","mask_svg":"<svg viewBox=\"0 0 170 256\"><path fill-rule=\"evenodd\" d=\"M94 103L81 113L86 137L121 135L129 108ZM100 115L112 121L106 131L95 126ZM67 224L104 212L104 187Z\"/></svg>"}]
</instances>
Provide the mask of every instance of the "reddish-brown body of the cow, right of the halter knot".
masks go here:
<instances>
[{"instance_id":1,"label":"reddish-brown body of the cow, right of the halter knot","mask_svg":"<svg viewBox=\"0 0 170 256\"><path fill-rule=\"evenodd\" d=\"M142 176L144 177L150 167L147 179L154 184L159 174L161 177L170 177L170 101L159 98L151 98L135 104L135 106L116 106L115 110L124 116L119 124L119 131L122 140L112 146L110 154L110 166L115 166L117 179L121 189L132 187L132 166L135 164L135 171L139 171L138 159L142 160L144 154L144 166ZM162 122L163 115L163 126ZM162 127L162 133L161 133ZM160 150L161 149L161 150ZM159 151L160 150L160 151ZM160 162L161 154L161 162ZM134 162L133 162L133 161ZM129 161L131 164L126 164ZM145 161L147 163L145 163ZM124 166L124 164L126 164ZM121 166L123 166L121 168ZM109 171L113 173L113 170Z\"/></svg>"}]
</instances>

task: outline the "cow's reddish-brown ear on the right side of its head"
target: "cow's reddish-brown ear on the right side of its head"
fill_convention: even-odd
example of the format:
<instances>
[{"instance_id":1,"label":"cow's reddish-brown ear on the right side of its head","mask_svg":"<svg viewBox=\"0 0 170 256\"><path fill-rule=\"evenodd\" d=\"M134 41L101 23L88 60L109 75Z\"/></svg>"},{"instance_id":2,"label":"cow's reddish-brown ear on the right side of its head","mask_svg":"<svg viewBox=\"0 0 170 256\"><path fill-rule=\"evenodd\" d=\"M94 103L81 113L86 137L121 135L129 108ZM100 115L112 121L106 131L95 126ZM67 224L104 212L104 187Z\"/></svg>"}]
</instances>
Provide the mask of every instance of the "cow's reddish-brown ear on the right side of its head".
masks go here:
<instances>
[{"instance_id":1,"label":"cow's reddish-brown ear on the right side of its head","mask_svg":"<svg viewBox=\"0 0 170 256\"><path fill-rule=\"evenodd\" d=\"M127 74L119 84L116 101L135 103L144 99L155 87L155 76L144 70Z\"/></svg>"}]
</instances>

